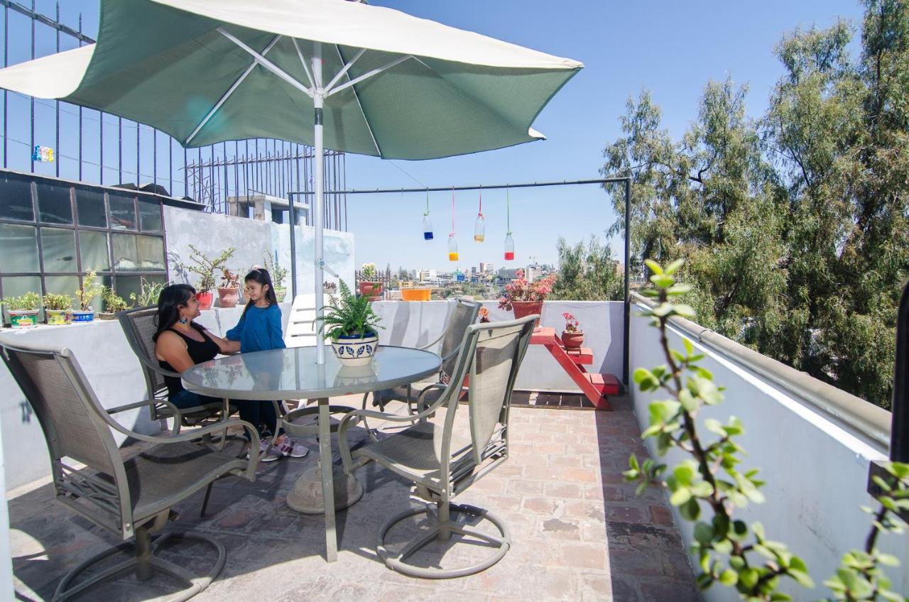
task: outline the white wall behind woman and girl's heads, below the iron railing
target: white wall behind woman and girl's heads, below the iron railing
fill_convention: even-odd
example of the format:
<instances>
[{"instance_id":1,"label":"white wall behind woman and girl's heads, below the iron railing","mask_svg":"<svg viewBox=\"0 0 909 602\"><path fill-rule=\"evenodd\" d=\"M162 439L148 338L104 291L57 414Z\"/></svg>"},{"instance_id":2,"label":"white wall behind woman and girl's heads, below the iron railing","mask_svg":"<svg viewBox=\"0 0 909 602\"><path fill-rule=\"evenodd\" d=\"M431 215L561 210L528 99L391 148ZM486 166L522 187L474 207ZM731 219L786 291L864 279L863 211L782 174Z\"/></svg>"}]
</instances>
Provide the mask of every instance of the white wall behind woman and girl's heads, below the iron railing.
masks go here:
<instances>
[{"instance_id":1,"label":"white wall behind woman and girl's heads, below the iron railing","mask_svg":"<svg viewBox=\"0 0 909 602\"><path fill-rule=\"evenodd\" d=\"M179 263L189 263L191 244L209 257L215 257L233 246L235 253L227 260L227 267L241 277L250 267L263 265L265 255L274 261L276 251L278 263L288 270L285 286L290 290L290 226L171 206L165 206L164 209L167 269L174 282L189 282L194 286L198 284L198 276L186 274L177 268ZM297 284L301 291L313 291L315 228L296 226L295 233ZM344 277L348 284L352 284L354 235L325 230L325 263ZM220 282L220 275L216 276L217 282Z\"/></svg>"}]
</instances>

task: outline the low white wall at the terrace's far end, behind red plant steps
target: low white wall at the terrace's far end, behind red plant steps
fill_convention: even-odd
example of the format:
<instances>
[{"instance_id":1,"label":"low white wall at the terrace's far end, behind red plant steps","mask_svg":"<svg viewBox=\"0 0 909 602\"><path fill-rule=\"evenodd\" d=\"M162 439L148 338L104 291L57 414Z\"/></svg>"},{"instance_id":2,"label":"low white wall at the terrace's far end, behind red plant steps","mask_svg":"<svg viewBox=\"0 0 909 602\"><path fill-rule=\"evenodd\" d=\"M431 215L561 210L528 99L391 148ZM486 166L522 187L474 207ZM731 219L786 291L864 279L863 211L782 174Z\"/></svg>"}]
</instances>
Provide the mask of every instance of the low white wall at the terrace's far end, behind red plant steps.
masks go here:
<instances>
[{"instance_id":1,"label":"low white wall at the terrace's far end, behind red plant steps","mask_svg":"<svg viewBox=\"0 0 909 602\"><path fill-rule=\"evenodd\" d=\"M510 311L498 308L495 301L484 301L492 320L510 320ZM594 364L588 372L613 374L621 379L623 315L621 301L546 301L541 326L552 326L556 334L564 327L564 312L570 312L584 329L584 346L594 351ZM379 342L385 345L422 346L441 336L454 307L454 301L376 301L373 306L382 316ZM530 346L518 373L516 386L532 391L580 392L544 346Z\"/></svg>"}]
</instances>

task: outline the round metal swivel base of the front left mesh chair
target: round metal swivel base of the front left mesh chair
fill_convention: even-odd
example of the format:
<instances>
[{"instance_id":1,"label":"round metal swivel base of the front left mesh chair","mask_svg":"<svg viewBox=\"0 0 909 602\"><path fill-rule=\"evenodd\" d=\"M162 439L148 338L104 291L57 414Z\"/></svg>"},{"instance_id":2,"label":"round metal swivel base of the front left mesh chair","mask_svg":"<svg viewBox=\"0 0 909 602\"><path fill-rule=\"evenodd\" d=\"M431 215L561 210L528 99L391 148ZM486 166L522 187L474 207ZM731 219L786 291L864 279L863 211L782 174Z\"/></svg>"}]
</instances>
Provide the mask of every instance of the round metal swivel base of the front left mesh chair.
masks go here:
<instances>
[{"instance_id":1,"label":"round metal swivel base of the front left mesh chair","mask_svg":"<svg viewBox=\"0 0 909 602\"><path fill-rule=\"evenodd\" d=\"M130 571L135 571L137 577L140 579L153 577L155 572L160 572L170 577L174 577L179 581L182 581L186 584L187 587L175 593L173 597L167 598L167 602L184 602L184 600L188 600L189 598L194 597L196 594L205 591L205 588L207 588L211 582L221 574L221 571L225 567L225 561L227 558L225 547L212 537L207 537L196 533L172 532L166 533L161 536L155 536L153 538L155 539L155 543L150 546L150 549L147 550L145 555L139 552L137 547L138 542L125 542L119 546L111 547L109 549L106 549L104 552L95 554L95 556L90 557L84 562L80 563L77 567L67 573L66 576L63 577L63 579L60 581L60 584L57 586L54 593L54 602L62 602L63 600L68 600L72 597L78 596L79 594L85 592L85 590L89 587L93 587L104 581L114 579L115 577L118 577ZM212 567L206 575L200 577L190 574L183 567L178 567L174 563L168 562L164 558L155 557L155 550L163 547L171 539L175 541L179 541L181 539L198 541L214 547L218 553L218 558L217 561L215 561L215 566ZM85 570L94 567L99 562L105 560L105 558L112 557L119 552L126 552L130 549L135 549L136 554L134 557L118 563L113 567L107 568L94 577L86 579L85 581L73 586L75 579L84 573Z\"/></svg>"}]
</instances>

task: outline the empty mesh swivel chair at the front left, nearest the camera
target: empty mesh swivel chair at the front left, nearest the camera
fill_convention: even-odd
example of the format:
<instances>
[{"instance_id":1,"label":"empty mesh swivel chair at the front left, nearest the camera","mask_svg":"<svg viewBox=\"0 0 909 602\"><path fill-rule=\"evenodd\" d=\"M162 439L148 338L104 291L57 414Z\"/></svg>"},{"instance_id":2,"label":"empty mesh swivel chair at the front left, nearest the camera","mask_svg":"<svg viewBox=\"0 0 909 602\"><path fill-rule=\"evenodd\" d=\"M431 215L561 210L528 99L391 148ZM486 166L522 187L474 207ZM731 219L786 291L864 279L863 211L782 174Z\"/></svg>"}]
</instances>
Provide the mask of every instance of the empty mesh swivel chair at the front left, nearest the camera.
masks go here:
<instances>
[{"instance_id":1,"label":"empty mesh swivel chair at the front left, nearest the camera","mask_svg":"<svg viewBox=\"0 0 909 602\"><path fill-rule=\"evenodd\" d=\"M65 600L133 570L140 580L160 571L184 582L187 587L172 600L185 600L208 587L225 566L225 548L220 543L193 533L172 532L160 537L153 537L152 533L165 526L170 507L215 479L231 474L255 479L258 464L255 454L240 460L195 445L193 440L215 431L223 432L228 426L243 426L249 432L253 449L257 449L255 428L240 420L229 420L182 435L140 435L110 415L158 402L145 400L105 410L69 349L0 340L0 355L44 431L56 499L123 539L135 537L135 542L125 542L80 563L60 581L54 599ZM157 445L124 458L112 428L138 441ZM85 468L76 467L75 463L82 463ZM215 548L217 559L206 575L194 576L185 568L155 556L166 541L179 539ZM135 552L133 557L75 584L75 579L89 567L130 548Z\"/></svg>"}]
</instances>

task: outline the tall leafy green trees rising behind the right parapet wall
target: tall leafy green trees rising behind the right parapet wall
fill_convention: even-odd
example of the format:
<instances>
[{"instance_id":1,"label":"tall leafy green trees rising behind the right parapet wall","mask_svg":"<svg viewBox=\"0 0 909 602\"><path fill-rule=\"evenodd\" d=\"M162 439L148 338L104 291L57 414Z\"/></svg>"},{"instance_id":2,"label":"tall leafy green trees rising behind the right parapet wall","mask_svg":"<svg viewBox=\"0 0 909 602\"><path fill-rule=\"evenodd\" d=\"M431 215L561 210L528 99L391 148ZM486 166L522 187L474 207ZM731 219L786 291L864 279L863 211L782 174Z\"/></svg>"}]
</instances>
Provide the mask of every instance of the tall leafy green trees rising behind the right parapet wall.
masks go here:
<instances>
[{"instance_id":1,"label":"tall leafy green trees rising behind the right parapet wall","mask_svg":"<svg viewBox=\"0 0 909 602\"><path fill-rule=\"evenodd\" d=\"M602 172L633 177L633 268L687 257L704 326L887 407L909 276L909 5L864 4L857 60L844 22L784 36L760 119L731 79L708 82L677 141L649 93L629 100Z\"/></svg>"}]
</instances>

